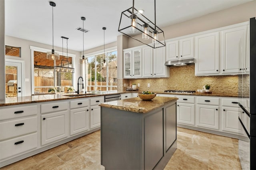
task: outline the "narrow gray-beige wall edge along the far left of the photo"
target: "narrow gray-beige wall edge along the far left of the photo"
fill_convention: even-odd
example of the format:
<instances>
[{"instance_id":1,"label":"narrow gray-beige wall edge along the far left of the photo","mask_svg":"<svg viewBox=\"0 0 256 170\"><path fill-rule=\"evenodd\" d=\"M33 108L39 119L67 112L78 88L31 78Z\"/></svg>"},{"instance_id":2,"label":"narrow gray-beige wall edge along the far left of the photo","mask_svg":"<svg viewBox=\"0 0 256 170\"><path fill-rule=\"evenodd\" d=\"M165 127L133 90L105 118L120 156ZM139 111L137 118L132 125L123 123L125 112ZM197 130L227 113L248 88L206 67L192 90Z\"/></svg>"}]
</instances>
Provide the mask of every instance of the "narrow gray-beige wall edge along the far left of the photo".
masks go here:
<instances>
[{"instance_id":1,"label":"narrow gray-beige wall edge along the far left of the photo","mask_svg":"<svg viewBox=\"0 0 256 170\"><path fill-rule=\"evenodd\" d=\"M4 22L4 0L0 0L0 73L5 72L5 22ZM5 74L0 75L0 102L5 101Z\"/></svg>"}]
</instances>

